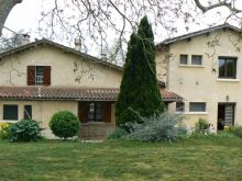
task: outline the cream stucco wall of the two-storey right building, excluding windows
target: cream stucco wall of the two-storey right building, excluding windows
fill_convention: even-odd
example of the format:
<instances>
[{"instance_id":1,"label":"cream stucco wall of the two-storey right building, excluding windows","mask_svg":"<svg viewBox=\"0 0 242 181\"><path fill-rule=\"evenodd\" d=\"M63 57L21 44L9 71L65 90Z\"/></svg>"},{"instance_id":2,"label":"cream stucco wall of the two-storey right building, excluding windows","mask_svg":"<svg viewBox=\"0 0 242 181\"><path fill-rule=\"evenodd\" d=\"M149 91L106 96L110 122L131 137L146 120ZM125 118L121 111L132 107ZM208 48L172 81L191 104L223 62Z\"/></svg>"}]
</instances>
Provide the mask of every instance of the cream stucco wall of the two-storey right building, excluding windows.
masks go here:
<instances>
[{"instance_id":1,"label":"cream stucco wall of the two-storey right building, excluding windows","mask_svg":"<svg viewBox=\"0 0 242 181\"><path fill-rule=\"evenodd\" d=\"M218 103L235 102L235 124L242 124L242 42L232 31L217 31L199 35L190 39L178 41L169 45L169 54L174 57L167 65L168 89L184 98L186 122L190 125L199 117L206 117L217 125ZM209 46L215 45L215 46ZM162 54L162 53L161 53ZM179 65L179 55L188 55L189 65ZM202 65L190 65L191 55L202 55ZM237 79L218 79L218 57L238 57ZM212 71L212 69L216 70ZM229 95L229 100L227 99ZM204 113L190 113L189 102L206 102Z\"/></svg>"}]
</instances>

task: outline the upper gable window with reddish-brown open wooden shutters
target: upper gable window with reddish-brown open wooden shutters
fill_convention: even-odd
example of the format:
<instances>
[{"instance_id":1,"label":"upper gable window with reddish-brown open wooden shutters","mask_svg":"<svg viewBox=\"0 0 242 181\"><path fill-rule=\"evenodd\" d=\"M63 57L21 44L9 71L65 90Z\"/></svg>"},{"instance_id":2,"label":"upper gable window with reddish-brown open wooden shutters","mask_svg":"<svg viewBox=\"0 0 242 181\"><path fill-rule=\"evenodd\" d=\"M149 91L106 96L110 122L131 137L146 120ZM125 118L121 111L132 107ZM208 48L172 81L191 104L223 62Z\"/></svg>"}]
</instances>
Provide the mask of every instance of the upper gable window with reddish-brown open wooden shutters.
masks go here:
<instances>
[{"instance_id":1,"label":"upper gable window with reddish-brown open wooden shutters","mask_svg":"<svg viewBox=\"0 0 242 181\"><path fill-rule=\"evenodd\" d=\"M51 66L28 66L28 86L51 84Z\"/></svg>"}]
</instances>

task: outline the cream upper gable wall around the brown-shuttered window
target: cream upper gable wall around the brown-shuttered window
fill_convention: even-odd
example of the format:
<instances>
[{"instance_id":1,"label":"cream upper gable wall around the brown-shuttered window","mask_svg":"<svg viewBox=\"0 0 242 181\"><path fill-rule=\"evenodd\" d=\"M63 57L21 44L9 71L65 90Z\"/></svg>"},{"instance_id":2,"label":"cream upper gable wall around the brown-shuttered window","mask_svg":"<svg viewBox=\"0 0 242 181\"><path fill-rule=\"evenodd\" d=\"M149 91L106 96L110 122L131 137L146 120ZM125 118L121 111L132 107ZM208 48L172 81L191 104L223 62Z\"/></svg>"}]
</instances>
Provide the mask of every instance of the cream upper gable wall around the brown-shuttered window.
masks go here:
<instances>
[{"instance_id":1,"label":"cream upper gable wall around the brown-shuttered window","mask_svg":"<svg viewBox=\"0 0 242 181\"><path fill-rule=\"evenodd\" d=\"M0 60L0 86L26 86L26 66L51 66L51 86L119 88L122 71L52 46L38 46Z\"/></svg>"}]
</instances>

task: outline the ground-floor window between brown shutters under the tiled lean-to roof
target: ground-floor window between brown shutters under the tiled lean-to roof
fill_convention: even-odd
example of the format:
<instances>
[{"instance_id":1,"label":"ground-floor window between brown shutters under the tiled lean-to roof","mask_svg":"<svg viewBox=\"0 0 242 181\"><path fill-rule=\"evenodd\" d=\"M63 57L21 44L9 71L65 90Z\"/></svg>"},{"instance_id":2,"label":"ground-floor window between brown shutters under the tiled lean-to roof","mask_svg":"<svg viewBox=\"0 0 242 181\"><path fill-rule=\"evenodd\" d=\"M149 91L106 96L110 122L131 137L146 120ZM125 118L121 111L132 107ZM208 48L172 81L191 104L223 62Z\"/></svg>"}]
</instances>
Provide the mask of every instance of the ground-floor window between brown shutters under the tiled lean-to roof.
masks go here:
<instances>
[{"instance_id":1,"label":"ground-floor window between brown shutters under the tiled lean-to roof","mask_svg":"<svg viewBox=\"0 0 242 181\"><path fill-rule=\"evenodd\" d=\"M94 112L90 113L90 105L94 105ZM102 102L90 102L88 104L88 113L87 113L87 120L88 122L103 122L103 103ZM100 111L100 112L99 112ZM90 118L90 114L92 114L94 118ZM101 118L98 118L98 115L101 115Z\"/></svg>"}]
</instances>

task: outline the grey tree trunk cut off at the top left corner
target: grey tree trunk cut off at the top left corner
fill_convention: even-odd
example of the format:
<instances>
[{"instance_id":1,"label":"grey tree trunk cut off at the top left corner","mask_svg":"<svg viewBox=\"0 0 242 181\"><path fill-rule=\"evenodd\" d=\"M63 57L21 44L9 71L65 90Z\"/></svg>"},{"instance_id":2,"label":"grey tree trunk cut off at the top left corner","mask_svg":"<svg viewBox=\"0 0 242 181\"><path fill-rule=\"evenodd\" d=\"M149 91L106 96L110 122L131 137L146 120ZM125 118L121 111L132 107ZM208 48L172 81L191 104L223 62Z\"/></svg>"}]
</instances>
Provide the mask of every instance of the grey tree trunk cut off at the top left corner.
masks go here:
<instances>
[{"instance_id":1,"label":"grey tree trunk cut off at the top left corner","mask_svg":"<svg viewBox=\"0 0 242 181\"><path fill-rule=\"evenodd\" d=\"M0 0L0 36L2 35L2 29L6 20L16 3L21 3L22 0Z\"/></svg>"}]
</instances>

